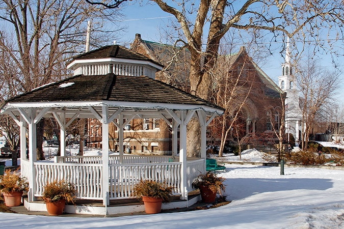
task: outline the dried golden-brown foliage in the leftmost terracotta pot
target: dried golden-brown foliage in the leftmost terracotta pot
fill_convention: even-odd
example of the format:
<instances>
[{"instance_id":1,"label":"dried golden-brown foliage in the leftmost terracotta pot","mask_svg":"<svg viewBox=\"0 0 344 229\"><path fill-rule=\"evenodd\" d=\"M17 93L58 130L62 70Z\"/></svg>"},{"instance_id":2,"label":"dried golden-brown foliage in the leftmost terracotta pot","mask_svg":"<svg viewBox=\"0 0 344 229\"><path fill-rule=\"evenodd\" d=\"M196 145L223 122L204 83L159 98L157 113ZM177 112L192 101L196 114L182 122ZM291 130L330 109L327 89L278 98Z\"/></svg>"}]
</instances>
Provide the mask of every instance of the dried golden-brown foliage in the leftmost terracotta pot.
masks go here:
<instances>
[{"instance_id":1,"label":"dried golden-brown foliage in the leftmost terracotta pot","mask_svg":"<svg viewBox=\"0 0 344 229\"><path fill-rule=\"evenodd\" d=\"M18 169L11 174L7 169L3 176L0 176L0 190L5 193L21 192L29 190L29 182L25 177L20 177Z\"/></svg>"}]
</instances>

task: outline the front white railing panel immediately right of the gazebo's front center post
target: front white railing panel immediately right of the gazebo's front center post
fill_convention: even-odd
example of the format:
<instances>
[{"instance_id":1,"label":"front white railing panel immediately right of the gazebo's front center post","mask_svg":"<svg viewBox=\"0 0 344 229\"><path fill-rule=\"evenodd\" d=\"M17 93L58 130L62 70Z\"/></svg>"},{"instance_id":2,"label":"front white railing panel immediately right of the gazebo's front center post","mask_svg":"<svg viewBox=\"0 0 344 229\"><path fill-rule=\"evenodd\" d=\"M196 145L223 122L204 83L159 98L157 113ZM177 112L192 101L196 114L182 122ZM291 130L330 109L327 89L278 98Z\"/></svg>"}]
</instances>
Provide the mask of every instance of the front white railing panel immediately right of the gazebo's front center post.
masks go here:
<instances>
[{"instance_id":1,"label":"front white railing panel immediately right of the gazebo's front center post","mask_svg":"<svg viewBox=\"0 0 344 229\"><path fill-rule=\"evenodd\" d=\"M141 180L166 182L181 193L181 162L110 165L110 199L128 198Z\"/></svg>"}]
</instances>

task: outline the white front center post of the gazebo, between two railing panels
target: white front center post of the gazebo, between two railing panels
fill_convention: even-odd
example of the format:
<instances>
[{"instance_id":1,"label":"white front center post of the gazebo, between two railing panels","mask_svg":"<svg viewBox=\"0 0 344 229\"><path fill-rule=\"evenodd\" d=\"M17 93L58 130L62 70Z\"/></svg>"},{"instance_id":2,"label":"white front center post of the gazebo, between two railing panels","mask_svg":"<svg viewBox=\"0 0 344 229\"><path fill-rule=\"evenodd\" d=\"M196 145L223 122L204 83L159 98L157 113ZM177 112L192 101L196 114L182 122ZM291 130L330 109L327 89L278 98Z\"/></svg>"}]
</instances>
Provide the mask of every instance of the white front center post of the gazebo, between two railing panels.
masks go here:
<instances>
[{"instance_id":1,"label":"white front center post of the gazebo, between two railing panels","mask_svg":"<svg viewBox=\"0 0 344 229\"><path fill-rule=\"evenodd\" d=\"M103 192L103 205L105 208L110 204L109 196L109 108L102 106L102 192Z\"/></svg>"}]
</instances>

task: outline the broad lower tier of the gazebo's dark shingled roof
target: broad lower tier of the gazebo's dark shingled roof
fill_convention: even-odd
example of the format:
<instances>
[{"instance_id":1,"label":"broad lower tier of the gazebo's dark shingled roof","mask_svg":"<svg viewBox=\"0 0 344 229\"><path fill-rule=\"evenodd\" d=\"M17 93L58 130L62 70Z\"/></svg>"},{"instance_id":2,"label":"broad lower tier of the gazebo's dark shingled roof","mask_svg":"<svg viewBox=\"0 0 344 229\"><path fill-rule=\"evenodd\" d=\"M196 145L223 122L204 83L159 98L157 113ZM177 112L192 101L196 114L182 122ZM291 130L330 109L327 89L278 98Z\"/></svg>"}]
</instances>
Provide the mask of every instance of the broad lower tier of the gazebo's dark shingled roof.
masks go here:
<instances>
[{"instance_id":1,"label":"broad lower tier of the gazebo's dark shingled roof","mask_svg":"<svg viewBox=\"0 0 344 229\"><path fill-rule=\"evenodd\" d=\"M6 103L118 101L209 106L223 110L197 96L147 76L76 75L16 96Z\"/></svg>"}]
</instances>

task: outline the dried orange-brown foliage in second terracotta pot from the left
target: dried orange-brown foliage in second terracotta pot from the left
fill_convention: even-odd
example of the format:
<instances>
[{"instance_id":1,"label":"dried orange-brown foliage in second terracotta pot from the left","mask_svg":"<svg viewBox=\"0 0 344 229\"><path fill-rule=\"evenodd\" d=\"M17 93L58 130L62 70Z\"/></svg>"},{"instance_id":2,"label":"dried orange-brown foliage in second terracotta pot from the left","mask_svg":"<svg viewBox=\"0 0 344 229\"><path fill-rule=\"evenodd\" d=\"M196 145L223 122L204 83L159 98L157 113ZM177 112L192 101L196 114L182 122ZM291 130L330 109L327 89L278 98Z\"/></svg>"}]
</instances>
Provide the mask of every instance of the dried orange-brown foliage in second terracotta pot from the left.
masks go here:
<instances>
[{"instance_id":1,"label":"dried orange-brown foliage in second terracotta pot from the left","mask_svg":"<svg viewBox=\"0 0 344 229\"><path fill-rule=\"evenodd\" d=\"M65 182L64 180L54 181L44 186L42 198L49 202L57 202L64 198L67 202L74 203L73 198L75 193L74 185L71 183Z\"/></svg>"}]
</instances>

